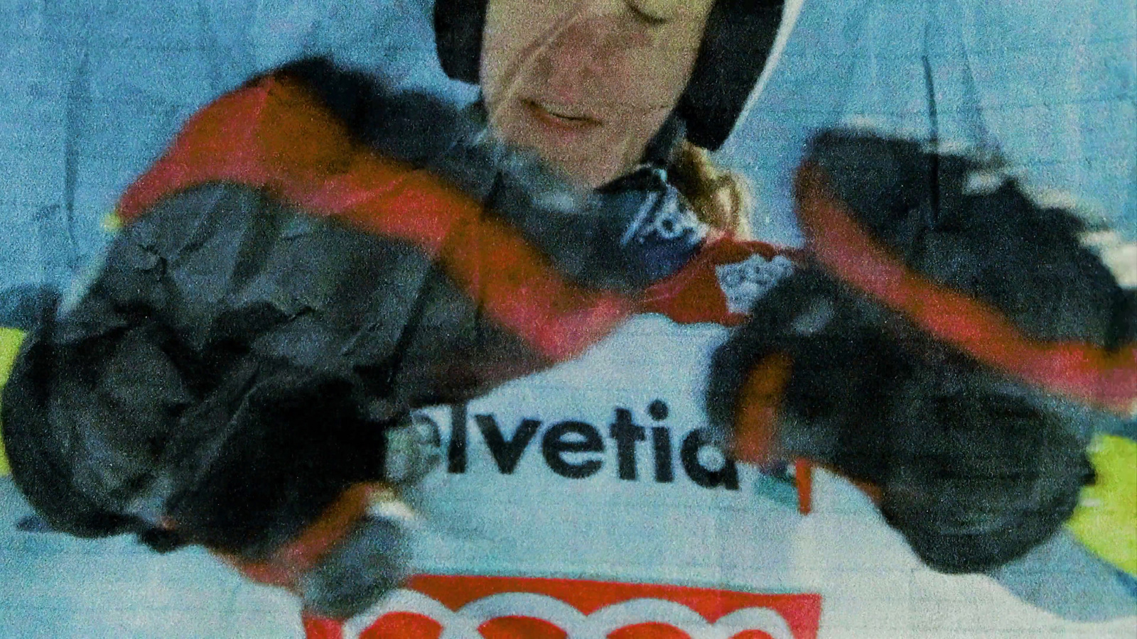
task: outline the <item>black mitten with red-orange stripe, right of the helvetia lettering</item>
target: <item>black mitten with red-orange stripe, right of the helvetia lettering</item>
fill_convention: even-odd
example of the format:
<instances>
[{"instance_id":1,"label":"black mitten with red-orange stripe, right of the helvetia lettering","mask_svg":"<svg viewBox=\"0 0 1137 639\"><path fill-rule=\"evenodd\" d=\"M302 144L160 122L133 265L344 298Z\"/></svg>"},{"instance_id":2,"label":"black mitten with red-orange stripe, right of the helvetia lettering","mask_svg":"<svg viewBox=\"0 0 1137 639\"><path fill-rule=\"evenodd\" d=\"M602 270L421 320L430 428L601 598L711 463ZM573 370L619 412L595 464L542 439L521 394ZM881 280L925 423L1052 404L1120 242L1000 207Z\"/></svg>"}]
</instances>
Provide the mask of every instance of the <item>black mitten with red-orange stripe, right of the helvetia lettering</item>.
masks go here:
<instances>
[{"instance_id":1,"label":"black mitten with red-orange stripe, right of the helvetia lettering","mask_svg":"<svg viewBox=\"0 0 1137 639\"><path fill-rule=\"evenodd\" d=\"M997 165L854 132L814 140L796 196L814 257L716 354L721 440L875 484L940 571L1049 538L1137 395L1135 294L1086 223Z\"/></svg>"}]
</instances>

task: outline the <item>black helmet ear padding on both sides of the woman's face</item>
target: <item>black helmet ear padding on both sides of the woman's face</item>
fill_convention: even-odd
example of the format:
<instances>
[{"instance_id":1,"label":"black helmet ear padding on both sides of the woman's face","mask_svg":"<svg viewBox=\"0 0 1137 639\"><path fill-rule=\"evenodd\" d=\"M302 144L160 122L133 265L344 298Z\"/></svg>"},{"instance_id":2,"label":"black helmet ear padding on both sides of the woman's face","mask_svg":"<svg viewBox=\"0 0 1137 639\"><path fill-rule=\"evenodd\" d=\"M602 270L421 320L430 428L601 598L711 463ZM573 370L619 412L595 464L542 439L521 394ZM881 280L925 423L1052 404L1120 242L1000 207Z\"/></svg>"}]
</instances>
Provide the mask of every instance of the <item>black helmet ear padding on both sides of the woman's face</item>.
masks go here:
<instances>
[{"instance_id":1,"label":"black helmet ear padding on both sides of the woman's face","mask_svg":"<svg viewBox=\"0 0 1137 639\"><path fill-rule=\"evenodd\" d=\"M488 0L435 0L434 41L442 70L478 84ZM746 107L782 19L783 0L715 0L675 113L687 139L716 150Z\"/></svg>"}]
</instances>

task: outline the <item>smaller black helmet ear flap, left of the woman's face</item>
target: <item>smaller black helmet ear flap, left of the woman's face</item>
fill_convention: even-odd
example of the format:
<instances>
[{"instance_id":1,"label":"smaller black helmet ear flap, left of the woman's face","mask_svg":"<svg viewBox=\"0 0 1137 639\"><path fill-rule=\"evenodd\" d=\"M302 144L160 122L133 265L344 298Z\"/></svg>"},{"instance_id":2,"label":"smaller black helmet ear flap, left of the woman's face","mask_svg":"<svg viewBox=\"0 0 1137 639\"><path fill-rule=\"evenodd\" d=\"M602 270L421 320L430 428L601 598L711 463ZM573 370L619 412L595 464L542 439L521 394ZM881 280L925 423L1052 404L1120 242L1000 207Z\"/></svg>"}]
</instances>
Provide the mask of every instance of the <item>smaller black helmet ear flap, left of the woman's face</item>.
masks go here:
<instances>
[{"instance_id":1,"label":"smaller black helmet ear flap, left of the woman's face","mask_svg":"<svg viewBox=\"0 0 1137 639\"><path fill-rule=\"evenodd\" d=\"M478 84L487 0L434 0L434 48L446 75Z\"/></svg>"}]
</instances>

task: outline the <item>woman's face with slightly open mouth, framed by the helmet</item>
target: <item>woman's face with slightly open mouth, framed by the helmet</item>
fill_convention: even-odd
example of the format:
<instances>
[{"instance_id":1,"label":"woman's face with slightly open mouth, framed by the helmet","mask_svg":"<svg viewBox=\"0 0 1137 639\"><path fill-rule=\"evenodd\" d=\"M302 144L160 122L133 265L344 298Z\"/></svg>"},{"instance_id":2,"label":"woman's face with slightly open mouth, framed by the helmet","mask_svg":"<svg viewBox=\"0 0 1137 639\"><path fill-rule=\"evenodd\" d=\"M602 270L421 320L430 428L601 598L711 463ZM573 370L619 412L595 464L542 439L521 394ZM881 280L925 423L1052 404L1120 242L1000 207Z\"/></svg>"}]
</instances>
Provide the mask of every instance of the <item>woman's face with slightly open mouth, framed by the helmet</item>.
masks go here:
<instances>
[{"instance_id":1,"label":"woman's face with slightly open mouth, framed by the helmet","mask_svg":"<svg viewBox=\"0 0 1137 639\"><path fill-rule=\"evenodd\" d=\"M636 166L674 109L714 0L490 0L491 125L599 186Z\"/></svg>"}]
</instances>

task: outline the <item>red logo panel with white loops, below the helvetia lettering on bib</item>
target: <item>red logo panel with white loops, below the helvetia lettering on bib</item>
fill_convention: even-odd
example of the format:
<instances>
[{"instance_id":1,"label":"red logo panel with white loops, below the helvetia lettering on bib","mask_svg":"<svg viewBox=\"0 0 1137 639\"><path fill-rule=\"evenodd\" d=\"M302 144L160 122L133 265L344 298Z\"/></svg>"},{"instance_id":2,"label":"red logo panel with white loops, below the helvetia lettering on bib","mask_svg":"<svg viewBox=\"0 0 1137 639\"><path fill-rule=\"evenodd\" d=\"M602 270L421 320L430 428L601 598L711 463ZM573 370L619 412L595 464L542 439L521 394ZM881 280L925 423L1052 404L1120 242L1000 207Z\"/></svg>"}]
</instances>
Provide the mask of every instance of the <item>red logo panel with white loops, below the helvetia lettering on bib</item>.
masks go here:
<instances>
[{"instance_id":1,"label":"red logo panel with white loops, below the helvetia lettering on bib","mask_svg":"<svg viewBox=\"0 0 1137 639\"><path fill-rule=\"evenodd\" d=\"M816 639L821 596L574 579L418 575L343 639ZM309 639L339 632L308 624Z\"/></svg>"}]
</instances>

